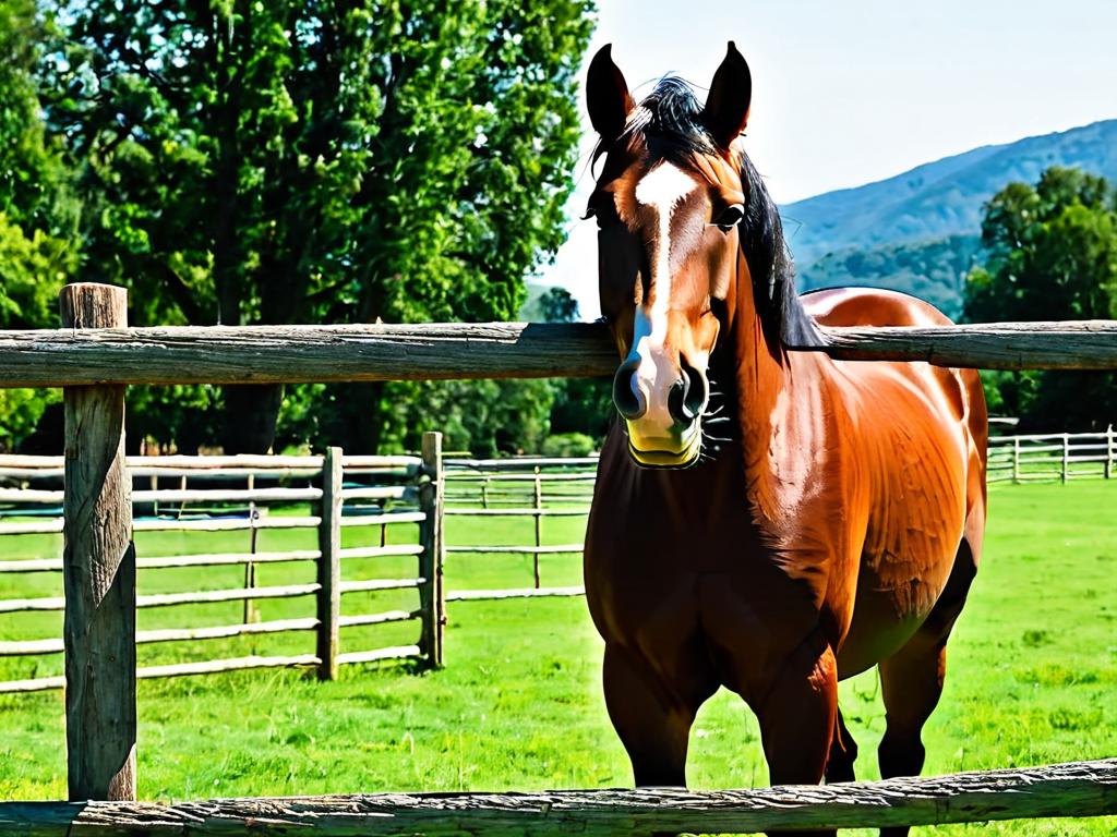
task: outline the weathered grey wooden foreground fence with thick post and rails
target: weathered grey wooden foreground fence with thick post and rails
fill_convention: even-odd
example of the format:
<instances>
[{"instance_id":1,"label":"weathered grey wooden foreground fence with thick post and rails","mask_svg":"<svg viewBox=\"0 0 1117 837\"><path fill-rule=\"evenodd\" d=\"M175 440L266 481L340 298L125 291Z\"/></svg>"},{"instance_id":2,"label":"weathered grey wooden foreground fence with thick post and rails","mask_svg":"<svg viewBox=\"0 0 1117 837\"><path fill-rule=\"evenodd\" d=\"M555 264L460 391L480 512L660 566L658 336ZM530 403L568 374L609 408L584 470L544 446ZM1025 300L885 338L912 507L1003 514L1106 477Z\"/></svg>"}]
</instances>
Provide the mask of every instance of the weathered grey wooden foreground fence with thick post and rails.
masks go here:
<instances>
[{"instance_id":1,"label":"weathered grey wooden foreground fence with thick post and rails","mask_svg":"<svg viewBox=\"0 0 1117 837\"><path fill-rule=\"evenodd\" d=\"M324 381L382 381L392 378L546 377L610 374L615 366L605 331L594 326L535 327L428 326L428 327L292 327L292 328L180 328L128 329L124 316L124 291L107 286L77 285L63 290L66 328L16 331L0 336L0 386L66 387L66 496L64 578L66 602L66 724L69 797L74 800L135 798L135 551L132 545L130 481L125 479L123 452L124 386L152 383L251 384ZM1117 368L1117 324L1018 324L982 327L825 329L824 343L810 350L824 350L852 359L927 360L945 366L985 368ZM796 347L789 347L796 348ZM806 347L804 347L805 349ZM430 497L438 502L437 489ZM437 533L436 536L437 537ZM830 786L796 789L825 793L834 812L832 825L900 825L974 821L1019 816L1094 816L1117 810L1114 800L1113 763L1096 762L1079 769L1075 781L1030 777L1022 783L1001 786L980 809L966 810L939 802L928 782L948 785L962 777L911 780L907 790L896 785ZM1059 768L1050 768L1058 773ZM895 781L895 780L894 780ZM1022 786L1027 786L1024 792ZM877 790L884 788L884 790ZM920 790L924 789L924 790ZM777 792L774 789L771 792ZM899 792L906 811L879 814L881 800ZM650 796L649 796L650 795ZM543 795L534 805L533 825L509 825L510 833L554 833L571 825L561 819L564 795ZM737 819L717 824L706 816L719 809L717 793L612 791L593 795L596 807L579 815L586 830L698 828L700 830L750 829L761 822L776 828L798 822L821 825L813 819L792 819L787 800L770 798L763 820L745 825ZM867 798L868 797L868 798ZM631 806L632 799L645 805ZM819 796L812 797L814 800ZM443 797L445 799L445 797ZM497 810L508 798L472 795L483 807ZM1037 805L1034 800L1042 799ZM875 800L875 801L873 801ZM929 802L928 802L929 800ZM369 817L360 804L351 802L346 816L316 818L319 834L374 833L374 824L402 817L405 799ZM346 802L341 802L343 806ZM446 822L446 808L439 816ZM485 817L472 812L468 800L452 810L452 828L465 833L489 833ZM90 819L101 820L101 834L152 833L204 834L206 811L217 810L214 829L249 827L273 833L289 831L285 806L308 806L325 814L331 799L306 802L251 802L231 819L220 802L195 804L172 815L168 808L137 806L126 801L76 806L0 804L0 824L20 822L34 834L79 834ZM804 804L795 817L812 804ZM608 819L618 808L620 820ZM872 809L877 810L873 811ZM813 808L818 815L819 808ZM823 811L827 809L823 808ZM650 812L649 812L650 811ZM841 814L844 811L844 816ZM86 816L88 812L88 816ZM297 811L296 811L297 812ZM38 824L28 817L41 815ZM552 818L552 815L555 815ZM360 817L355 821L353 816ZM803 815L806 817L806 815ZM825 815L831 816L831 815ZM125 825L128 818L131 825ZM185 818L185 821L183 819ZM345 822L349 817L349 822ZM604 828L600 827L607 818ZM700 819L705 817L704 819ZM18 819L17 818L21 818ZM113 824L117 818L120 827ZM547 821L550 820L550 821ZM490 818L499 824L499 817ZM828 821L829 820L823 820ZM47 829L47 830L44 830ZM178 830L173 830L178 829ZM327 830L332 829L332 830ZM435 831L423 822L407 831ZM88 830L87 834L95 834Z\"/></svg>"}]
</instances>

